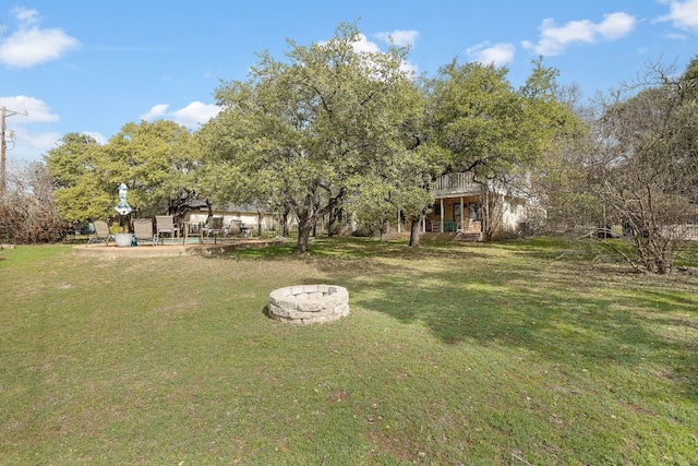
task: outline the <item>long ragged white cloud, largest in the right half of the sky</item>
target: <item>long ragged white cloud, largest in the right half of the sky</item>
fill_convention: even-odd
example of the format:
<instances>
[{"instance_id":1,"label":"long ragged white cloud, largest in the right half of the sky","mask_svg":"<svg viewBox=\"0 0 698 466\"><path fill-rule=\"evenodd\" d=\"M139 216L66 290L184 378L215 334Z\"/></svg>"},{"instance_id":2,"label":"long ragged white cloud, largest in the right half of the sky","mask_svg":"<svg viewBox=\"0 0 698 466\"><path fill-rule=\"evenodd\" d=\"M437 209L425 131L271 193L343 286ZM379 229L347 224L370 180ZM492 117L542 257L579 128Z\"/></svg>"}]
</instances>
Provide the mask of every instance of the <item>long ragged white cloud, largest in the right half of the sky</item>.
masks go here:
<instances>
[{"instance_id":1,"label":"long ragged white cloud, largest in the right half of the sky","mask_svg":"<svg viewBox=\"0 0 698 466\"><path fill-rule=\"evenodd\" d=\"M627 13L616 12L604 15L601 23L589 20L570 21L556 26L552 17L543 20L538 44L525 40L522 46L542 56L561 55L570 44L594 44L600 39L616 40L629 34L637 20Z\"/></svg>"}]
</instances>

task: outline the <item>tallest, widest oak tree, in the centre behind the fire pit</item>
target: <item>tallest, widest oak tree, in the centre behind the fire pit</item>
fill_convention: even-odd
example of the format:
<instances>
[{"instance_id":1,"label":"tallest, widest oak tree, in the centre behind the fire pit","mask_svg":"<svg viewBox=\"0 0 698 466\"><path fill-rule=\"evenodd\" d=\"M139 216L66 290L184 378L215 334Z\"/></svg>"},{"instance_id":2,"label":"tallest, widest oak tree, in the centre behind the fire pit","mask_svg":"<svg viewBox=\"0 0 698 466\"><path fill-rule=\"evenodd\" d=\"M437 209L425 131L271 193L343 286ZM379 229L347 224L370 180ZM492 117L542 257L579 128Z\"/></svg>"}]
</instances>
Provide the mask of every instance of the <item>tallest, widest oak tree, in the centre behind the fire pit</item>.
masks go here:
<instances>
[{"instance_id":1,"label":"tallest, widest oak tree, in the centre behind the fire pit","mask_svg":"<svg viewBox=\"0 0 698 466\"><path fill-rule=\"evenodd\" d=\"M217 89L224 110L198 134L209 194L290 208L297 253L320 218L402 154L400 128L414 110L407 50L362 51L359 40L354 25L341 24L326 43L289 41L285 61L261 53L248 81Z\"/></svg>"}]
</instances>

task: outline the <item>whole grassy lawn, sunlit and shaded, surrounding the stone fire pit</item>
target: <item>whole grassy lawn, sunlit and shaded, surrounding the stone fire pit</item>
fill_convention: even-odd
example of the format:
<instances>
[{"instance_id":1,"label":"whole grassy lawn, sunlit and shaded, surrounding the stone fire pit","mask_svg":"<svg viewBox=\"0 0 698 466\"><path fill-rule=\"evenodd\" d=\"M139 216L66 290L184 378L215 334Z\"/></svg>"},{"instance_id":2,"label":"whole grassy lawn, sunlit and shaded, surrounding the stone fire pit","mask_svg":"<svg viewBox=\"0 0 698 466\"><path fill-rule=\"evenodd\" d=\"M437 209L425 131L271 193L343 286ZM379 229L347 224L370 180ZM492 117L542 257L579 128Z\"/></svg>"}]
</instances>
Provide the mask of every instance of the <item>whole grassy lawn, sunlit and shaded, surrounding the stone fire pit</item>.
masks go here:
<instances>
[{"instance_id":1,"label":"whole grassy lawn, sunlit and shaded, surrounding the stone fire pit","mask_svg":"<svg viewBox=\"0 0 698 466\"><path fill-rule=\"evenodd\" d=\"M698 277L561 241L0 254L0 464L698 464ZM264 314L297 284L351 315Z\"/></svg>"}]
</instances>

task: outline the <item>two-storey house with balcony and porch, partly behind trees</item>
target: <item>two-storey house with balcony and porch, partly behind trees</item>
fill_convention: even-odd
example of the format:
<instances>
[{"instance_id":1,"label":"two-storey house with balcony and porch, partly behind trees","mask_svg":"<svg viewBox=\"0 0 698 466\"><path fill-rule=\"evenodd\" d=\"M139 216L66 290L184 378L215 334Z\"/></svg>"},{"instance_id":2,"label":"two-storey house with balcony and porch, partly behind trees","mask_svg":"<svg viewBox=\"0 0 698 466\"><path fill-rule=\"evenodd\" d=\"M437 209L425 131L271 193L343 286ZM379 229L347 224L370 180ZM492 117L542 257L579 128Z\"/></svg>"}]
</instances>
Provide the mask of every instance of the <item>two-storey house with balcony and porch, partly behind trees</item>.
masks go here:
<instances>
[{"instance_id":1,"label":"two-storey house with balcony and porch, partly behind trees","mask_svg":"<svg viewBox=\"0 0 698 466\"><path fill-rule=\"evenodd\" d=\"M476 181L471 172L443 175L433 183L434 206L424 217L424 232L457 232L464 240L482 240L491 231L520 234L540 222L544 211L510 187ZM486 202L485 202L486 201Z\"/></svg>"}]
</instances>

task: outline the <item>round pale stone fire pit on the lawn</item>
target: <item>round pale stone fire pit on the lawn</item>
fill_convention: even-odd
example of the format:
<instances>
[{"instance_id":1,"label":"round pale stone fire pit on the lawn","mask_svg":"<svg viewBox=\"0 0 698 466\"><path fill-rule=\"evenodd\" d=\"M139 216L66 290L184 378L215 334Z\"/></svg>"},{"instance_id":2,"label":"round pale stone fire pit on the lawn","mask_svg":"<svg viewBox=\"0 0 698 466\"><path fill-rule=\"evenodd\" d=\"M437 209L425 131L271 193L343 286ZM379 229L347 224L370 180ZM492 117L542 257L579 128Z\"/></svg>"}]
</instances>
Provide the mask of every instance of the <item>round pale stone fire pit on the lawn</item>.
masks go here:
<instances>
[{"instance_id":1,"label":"round pale stone fire pit on the lawn","mask_svg":"<svg viewBox=\"0 0 698 466\"><path fill-rule=\"evenodd\" d=\"M349 292L335 285L299 285L269 294L269 318L294 324L336 321L349 315Z\"/></svg>"}]
</instances>

